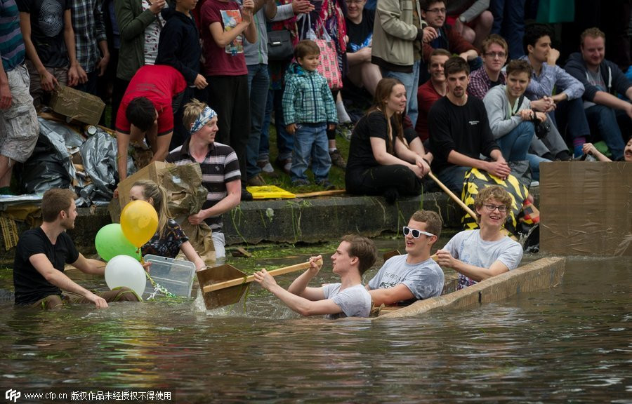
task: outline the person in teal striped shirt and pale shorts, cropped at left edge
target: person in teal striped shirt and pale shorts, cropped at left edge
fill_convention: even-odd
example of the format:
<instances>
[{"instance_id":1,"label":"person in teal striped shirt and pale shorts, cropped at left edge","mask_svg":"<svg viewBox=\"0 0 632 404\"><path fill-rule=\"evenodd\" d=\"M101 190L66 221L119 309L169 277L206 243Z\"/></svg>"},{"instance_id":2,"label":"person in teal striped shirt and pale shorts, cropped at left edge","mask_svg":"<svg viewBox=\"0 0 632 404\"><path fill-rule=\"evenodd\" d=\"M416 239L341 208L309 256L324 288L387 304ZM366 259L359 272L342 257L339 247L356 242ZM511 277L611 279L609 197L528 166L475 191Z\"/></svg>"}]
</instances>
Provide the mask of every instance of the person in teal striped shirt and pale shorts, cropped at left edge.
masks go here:
<instances>
[{"instance_id":1,"label":"person in teal striped shirt and pale shorts, cropped at left edge","mask_svg":"<svg viewBox=\"0 0 632 404\"><path fill-rule=\"evenodd\" d=\"M0 194L11 194L13 163L31 156L39 134L24 55L18 6L0 0Z\"/></svg>"}]
</instances>

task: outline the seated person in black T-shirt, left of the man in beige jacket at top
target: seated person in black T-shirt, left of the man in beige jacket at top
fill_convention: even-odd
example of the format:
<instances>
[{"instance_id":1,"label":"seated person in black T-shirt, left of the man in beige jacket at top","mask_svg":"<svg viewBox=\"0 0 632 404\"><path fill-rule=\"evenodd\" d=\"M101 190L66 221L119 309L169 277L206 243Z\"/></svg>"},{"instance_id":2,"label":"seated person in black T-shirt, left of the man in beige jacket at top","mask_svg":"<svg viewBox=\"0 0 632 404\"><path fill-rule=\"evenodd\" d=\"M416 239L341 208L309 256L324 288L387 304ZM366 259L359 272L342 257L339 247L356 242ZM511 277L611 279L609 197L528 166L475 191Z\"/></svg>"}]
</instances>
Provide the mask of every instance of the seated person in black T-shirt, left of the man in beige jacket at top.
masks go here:
<instances>
[{"instance_id":1,"label":"seated person in black T-shirt, left of the man in beige jacket at top","mask_svg":"<svg viewBox=\"0 0 632 404\"><path fill-rule=\"evenodd\" d=\"M382 79L378 65L371 63L373 25L375 10L367 10L367 0L347 0L347 77L359 88L365 88L371 97L375 95L377 83Z\"/></svg>"}]
</instances>

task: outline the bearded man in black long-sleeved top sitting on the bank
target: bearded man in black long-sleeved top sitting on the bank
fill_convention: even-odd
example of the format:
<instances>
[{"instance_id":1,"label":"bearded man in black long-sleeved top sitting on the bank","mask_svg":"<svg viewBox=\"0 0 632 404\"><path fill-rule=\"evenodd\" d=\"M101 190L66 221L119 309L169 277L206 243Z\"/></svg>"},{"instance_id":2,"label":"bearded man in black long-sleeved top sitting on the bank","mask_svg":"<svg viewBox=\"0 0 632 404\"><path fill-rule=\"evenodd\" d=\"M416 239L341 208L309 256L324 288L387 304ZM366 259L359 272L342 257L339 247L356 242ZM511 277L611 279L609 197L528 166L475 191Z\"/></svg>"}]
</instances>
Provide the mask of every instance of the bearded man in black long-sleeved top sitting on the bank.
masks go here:
<instances>
[{"instance_id":1,"label":"bearded man in black long-sleeved top sitting on the bank","mask_svg":"<svg viewBox=\"0 0 632 404\"><path fill-rule=\"evenodd\" d=\"M432 169L437 179L455 194L461 194L470 168L485 170L501 179L511 172L494 141L482 100L468 97L468 63L458 56L445 62L447 95L435 102L428 114ZM491 160L480 159L480 154Z\"/></svg>"}]
</instances>

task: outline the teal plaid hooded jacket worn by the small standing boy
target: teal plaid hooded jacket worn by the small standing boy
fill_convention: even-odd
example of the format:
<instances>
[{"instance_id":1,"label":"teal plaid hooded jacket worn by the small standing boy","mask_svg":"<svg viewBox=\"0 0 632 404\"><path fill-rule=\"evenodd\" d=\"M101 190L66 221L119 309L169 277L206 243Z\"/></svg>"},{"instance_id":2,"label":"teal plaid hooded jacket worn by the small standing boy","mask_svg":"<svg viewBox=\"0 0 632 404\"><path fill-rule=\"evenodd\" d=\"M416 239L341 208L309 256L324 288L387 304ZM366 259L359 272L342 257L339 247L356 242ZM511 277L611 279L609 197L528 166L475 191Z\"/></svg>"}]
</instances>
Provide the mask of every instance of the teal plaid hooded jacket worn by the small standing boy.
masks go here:
<instances>
[{"instance_id":1,"label":"teal plaid hooded jacket worn by the small standing boy","mask_svg":"<svg viewBox=\"0 0 632 404\"><path fill-rule=\"evenodd\" d=\"M285 74L283 92L285 124L338 123L336 104L327 80L318 72L308 72L292 63Z\"/></svg>"}]
</instances>

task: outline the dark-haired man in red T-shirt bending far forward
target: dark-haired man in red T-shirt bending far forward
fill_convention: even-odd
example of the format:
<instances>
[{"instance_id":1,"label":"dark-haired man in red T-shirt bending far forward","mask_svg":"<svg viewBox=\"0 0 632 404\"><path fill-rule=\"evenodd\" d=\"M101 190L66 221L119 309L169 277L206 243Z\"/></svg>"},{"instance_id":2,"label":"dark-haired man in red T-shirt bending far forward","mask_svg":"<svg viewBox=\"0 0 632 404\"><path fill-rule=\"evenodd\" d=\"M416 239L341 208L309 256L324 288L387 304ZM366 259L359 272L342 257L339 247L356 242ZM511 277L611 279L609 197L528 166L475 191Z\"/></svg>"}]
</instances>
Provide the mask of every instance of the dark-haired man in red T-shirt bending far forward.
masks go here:
<instances>
[{"instance_id":1,"label":"dark-haired man in red T-shirt bending far forward","mask_svg":"<svg viewBox=\"0 0 632 404\"><path fill-rule=\"evenodd\" d=\"M117 114L119 181L127 178L129 144L143 142L152 149L153 161L164 161L173 133L173 114L178 111L187 83L171 66L145 65L134 74Z\"/></svg>"}]
</instances>

